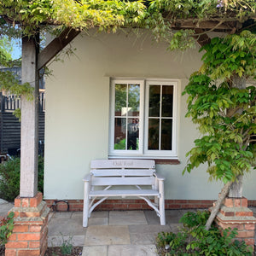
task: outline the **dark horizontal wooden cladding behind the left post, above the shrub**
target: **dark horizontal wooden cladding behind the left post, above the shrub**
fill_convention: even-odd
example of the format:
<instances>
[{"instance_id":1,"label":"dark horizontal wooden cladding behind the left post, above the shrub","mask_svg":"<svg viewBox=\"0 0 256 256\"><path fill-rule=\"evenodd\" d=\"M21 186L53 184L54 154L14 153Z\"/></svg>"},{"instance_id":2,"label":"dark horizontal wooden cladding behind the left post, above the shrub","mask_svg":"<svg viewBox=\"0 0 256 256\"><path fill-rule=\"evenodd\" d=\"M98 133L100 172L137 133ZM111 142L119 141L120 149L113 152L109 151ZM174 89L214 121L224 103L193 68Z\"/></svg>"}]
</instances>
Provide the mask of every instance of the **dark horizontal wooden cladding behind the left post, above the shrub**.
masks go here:
<instances>
[{"instance_id":1,"label":"dark horizontal wooden cladding behind the left post, above the shrub","mask_svg":"<svg viewBox=\"0 0 256 256\"><path fill-rule=\"evenodd\" d=\"M38 141L44 142L44 112L38 113ZM0 154L20 148L20 121L11 112L0 112Z\"/></svg>"}]
</instances>

